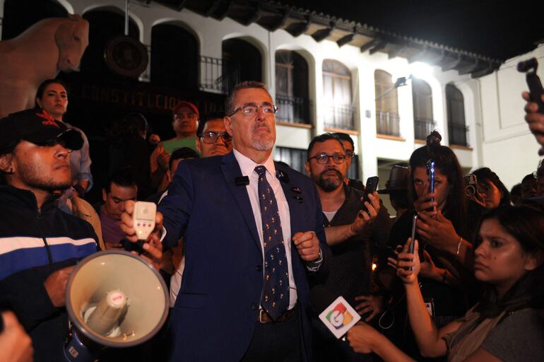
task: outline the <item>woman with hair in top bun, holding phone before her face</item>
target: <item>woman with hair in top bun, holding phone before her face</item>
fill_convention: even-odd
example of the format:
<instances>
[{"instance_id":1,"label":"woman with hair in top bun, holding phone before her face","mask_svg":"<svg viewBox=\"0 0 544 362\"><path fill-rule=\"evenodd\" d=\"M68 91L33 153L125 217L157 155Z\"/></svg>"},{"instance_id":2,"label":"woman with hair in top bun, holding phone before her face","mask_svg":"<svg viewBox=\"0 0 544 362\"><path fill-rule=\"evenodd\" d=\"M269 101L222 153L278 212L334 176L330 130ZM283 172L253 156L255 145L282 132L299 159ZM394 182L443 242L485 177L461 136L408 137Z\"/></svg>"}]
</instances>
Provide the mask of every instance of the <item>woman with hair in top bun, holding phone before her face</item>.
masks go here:
<instances>
[{"instance_id":1,"label":"woman with hair in top bun, holding phone before her face","mask_svg":"<svg viewBox=\"0 0 544 362\"><path fill-rule=\"evenodd\" d=\"M421 292L439 327L461 317L478 298L471 274L471 240L484 211L466 199L459 161L451 148L440 145L441 139L438 132L432 132L427 144L410 156L408 192L413 206L398 218L389 235L389 247L395 248L398 240L410 237L413 216L418 215L415 235L420 240L420 257L427 261L420 275ZM430 192L429 160L434 161L434 192ZM386 261L381 264L383 267ZM394 274L394 271L384 267L380 273ZM388 335L414 358L421 358L412 349L413 336L407 333L403 288L397 283L390 292L394 302L389 313L395 316L395 322Z\"/></svg>"}]
</instances>

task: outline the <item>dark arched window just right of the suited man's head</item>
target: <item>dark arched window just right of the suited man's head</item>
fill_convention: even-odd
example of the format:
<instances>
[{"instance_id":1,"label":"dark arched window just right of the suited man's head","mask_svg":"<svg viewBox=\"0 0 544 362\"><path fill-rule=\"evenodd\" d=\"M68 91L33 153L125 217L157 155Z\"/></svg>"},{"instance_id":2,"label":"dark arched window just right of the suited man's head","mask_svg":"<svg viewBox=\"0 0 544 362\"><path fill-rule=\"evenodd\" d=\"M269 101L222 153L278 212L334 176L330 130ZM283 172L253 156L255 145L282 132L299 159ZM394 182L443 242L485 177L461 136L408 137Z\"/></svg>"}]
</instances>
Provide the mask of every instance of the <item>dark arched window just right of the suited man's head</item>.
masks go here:
<instances>
[{"instance_id":1,"label":"dark arched window just right of the suited man's head","mask_svg":"<svg viewBox=\"0 0 544 362\"><path fill-rule=\"evenodd\" d=\"M276 52L276 119L283 122L311 123L308 100L308 65L296 52Z\"/></svg>"}]
</instances>

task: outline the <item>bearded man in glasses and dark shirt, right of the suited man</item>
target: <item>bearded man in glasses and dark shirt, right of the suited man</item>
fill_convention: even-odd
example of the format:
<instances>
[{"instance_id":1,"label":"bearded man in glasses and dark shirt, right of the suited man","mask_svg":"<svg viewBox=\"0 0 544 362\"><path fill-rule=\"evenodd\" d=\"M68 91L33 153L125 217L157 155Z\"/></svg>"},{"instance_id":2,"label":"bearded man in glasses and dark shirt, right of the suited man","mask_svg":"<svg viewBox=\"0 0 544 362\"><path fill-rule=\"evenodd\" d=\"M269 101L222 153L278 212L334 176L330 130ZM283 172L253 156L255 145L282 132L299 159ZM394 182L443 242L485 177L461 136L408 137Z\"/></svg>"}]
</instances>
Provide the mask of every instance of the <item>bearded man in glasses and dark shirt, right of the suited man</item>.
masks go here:
<instances>
[{"instance_id":1,"label":"bearded man in glasses and dark shirt, right of the suited man","mask_svg":"<svg viewBox=\"0 0 544 362\"><path fill-rule=\"evenodd\" d=\"M361 209L363 193L345 184L348 157L345 144L335 134L314 137L308 146L305 168L314 180L323 207L326 240L333 258L324 288L335 298L343 296L367 322L380 312L381 300L370 296L374 238L389 236L389 214L380 207L377 192ZM382 235L379 235L381 231ZM321 287L321 286L319 286ZM317 293L317 291L314 291ZM314 328L316 361L370 361L336 339L317 315Z\"/></svg>"}]
</instances>

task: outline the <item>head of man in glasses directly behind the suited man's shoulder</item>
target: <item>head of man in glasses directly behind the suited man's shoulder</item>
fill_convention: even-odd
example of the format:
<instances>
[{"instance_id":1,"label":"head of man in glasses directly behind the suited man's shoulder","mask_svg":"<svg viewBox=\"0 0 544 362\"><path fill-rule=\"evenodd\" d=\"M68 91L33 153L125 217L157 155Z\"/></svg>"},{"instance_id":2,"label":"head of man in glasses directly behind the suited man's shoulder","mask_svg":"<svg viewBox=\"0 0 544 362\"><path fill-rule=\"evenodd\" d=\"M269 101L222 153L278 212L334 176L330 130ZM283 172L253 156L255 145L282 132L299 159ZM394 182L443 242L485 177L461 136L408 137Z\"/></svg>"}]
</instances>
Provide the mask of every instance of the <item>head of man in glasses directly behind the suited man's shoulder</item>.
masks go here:
<instances>
[{"instance_id":1,"label":"head of man in glasses directly behind the suited man's shoulder","mask_svg":"<svg viewBox=\"0 0 544 362\"><path fill-rule=\"evenodd\" d=\"M223 156L232 151L232 137L227 133L222 112L206 115L196 132L196 149L202 157Z\"/></svg>"}]
</instances>

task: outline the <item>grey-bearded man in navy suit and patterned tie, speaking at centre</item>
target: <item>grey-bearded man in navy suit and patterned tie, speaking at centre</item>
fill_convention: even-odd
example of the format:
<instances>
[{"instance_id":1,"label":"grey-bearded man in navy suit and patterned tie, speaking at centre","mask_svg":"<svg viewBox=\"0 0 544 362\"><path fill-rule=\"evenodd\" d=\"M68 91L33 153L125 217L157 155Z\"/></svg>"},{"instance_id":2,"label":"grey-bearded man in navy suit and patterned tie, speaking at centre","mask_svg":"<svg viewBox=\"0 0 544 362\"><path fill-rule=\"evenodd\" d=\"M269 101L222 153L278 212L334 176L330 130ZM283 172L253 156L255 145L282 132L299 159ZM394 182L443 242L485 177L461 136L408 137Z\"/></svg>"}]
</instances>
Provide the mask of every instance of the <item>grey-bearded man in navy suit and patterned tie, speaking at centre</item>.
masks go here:
<instances>
[{"instance_id":1,"label":"grey-bearded man in navy suit and patterned tie, speaking at centre","mask_svg":"<svg viewBox=\"0 0 544 362\"><path fill-rule=\"evenodd\" d=\"M224 119L233 152L181 163L160 203L162 243L184 236L186 256L172 361L312 359L308 276L326 272L330 250L312 180L273 162L276 110L264 84L237 85Z\"/></svg>"}]
</instances>

